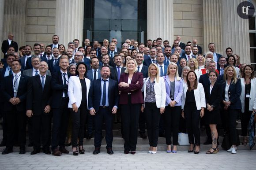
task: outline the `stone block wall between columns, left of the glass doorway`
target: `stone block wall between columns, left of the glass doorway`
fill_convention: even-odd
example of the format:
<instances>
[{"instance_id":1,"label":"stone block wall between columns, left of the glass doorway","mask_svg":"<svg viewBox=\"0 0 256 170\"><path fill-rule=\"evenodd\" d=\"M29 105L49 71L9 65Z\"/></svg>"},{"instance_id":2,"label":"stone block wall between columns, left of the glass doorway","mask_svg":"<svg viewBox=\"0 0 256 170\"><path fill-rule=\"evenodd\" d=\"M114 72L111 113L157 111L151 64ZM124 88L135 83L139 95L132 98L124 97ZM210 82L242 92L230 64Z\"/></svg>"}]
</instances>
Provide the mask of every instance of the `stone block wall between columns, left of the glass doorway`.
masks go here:
<instances>
[{"instance_id":1,"label":"stone block wall between columns, left of the glass doorway","mask_svg":"<svg viewBox=\"0 0 256 170\"><path fill-rule=\"evenodd\" d=\"M27 0L26 44L52 44L55 18L56 0Z\"/></svg>"}]
</instances>

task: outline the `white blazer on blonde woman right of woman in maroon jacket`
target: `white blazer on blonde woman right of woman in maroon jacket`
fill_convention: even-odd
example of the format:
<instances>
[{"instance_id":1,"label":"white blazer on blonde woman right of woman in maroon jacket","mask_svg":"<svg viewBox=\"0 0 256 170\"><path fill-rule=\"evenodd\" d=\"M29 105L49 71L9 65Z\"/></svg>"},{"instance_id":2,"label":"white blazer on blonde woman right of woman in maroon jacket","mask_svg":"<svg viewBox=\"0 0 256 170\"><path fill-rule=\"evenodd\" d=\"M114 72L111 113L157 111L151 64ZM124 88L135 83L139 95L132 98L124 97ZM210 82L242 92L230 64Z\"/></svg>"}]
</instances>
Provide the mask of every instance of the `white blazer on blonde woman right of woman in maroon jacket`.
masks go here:
<instances>
[{"instance_id":1,"label":"white blazer on blonde woman right of woman in maroon jacket","mask_svg":"<svg viewBox=\"0 0 256 170\"><path fill-rule=\"evenodd\" d=\"M143 90L144 90L144 102L147 96L146 93L146 85L147 81L149 81L149 78L143 78ZM155 96L155 102L156 102L156 107L166 107L166 84L165 81L162 77L159 78L159 82L156 82L156 79L154 79L155 84L154 84L154 96ZM144 105L145 107L145 105Z\"/></svg>"}]
</instances>

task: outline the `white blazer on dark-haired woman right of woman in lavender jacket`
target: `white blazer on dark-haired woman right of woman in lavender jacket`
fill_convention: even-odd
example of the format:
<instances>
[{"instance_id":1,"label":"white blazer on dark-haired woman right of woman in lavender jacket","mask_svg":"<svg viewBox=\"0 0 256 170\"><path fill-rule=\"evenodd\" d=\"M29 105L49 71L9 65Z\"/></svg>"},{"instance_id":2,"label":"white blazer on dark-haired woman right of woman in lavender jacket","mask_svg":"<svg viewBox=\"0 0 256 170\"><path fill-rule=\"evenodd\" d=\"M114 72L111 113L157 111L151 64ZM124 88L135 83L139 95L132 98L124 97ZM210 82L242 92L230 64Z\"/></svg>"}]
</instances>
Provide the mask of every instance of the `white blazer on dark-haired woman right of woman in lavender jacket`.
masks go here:
<instances>
[{"instance_id":1,"label":"white blazer on dark-haired woman right of woman in lavender jacket","mask_svg":"<svg viewBox=\"0 0 256 170\"><path fill-rule=\"evenodd\" d=\"M182 106L181 109L184 109L186 93L188 91L188 85L183 86L183 95L182 95ZM203 85L201 83L197 83L197 89L194 89L194 96L196 100L196 108L197 110L201 110L201 107L206 107L205 103L205 95Z\"/></svg>"}]
</instances>

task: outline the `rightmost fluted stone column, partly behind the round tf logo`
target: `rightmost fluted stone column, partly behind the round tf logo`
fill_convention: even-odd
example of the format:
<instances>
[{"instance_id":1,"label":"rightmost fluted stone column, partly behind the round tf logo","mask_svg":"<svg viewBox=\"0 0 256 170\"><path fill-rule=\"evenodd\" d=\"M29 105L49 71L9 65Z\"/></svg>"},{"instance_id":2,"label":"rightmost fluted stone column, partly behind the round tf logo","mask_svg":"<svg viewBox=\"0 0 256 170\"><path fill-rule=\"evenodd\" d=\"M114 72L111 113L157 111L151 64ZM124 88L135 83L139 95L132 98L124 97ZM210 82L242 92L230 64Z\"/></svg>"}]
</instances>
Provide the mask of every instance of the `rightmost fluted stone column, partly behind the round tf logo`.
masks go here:
<instances>
[{"instance_id":1,"label":"rightmost fluted stone column, partly behind the round tf logo","mask_svg":"<svg viewBox=\"0 0 256 170\"><path fill-rule=\"evenodd\" d=\"M226 56L227 47L241 58L241 63L250 63L250 42L248 19L240 18L237 6L244 0L222 0L222 49Z\"/></svg>"}]
</instances>

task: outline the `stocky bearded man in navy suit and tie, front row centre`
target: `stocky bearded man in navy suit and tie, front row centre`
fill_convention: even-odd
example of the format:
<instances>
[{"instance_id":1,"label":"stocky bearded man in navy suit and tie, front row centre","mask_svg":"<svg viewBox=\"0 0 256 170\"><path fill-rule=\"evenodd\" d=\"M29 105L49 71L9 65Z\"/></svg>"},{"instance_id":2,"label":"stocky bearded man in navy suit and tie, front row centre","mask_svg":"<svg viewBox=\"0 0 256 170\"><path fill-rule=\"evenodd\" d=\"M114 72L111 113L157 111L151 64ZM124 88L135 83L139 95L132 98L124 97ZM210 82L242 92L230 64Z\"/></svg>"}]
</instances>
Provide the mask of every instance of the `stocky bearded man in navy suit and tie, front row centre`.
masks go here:
<instances>
[{"instance_id":1,"label":"stocky bearded man in navy suit and tie, front row centre","mask_svg":"<svg viewBox=\"0 0 256 170\"><path fill-rule=\"evenodd\" d=\"M110 77L110 69L108 66L103 66L101 70L101 78L95 80L91 85L89 92L89 109L90 115L95 119L95 138L94 155L100 153L102 143L102 124L105 122L106 130L106 149L109 155L114 152L112 150L113 132L112 122L113 114L117 113L117 106L119 101L118 82L112 80ZM99 90L101 89L101 90Z\"/></svg>"}]
</instances>

